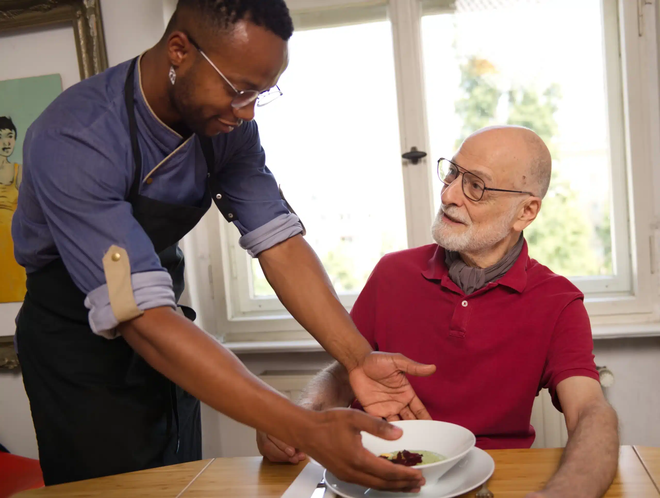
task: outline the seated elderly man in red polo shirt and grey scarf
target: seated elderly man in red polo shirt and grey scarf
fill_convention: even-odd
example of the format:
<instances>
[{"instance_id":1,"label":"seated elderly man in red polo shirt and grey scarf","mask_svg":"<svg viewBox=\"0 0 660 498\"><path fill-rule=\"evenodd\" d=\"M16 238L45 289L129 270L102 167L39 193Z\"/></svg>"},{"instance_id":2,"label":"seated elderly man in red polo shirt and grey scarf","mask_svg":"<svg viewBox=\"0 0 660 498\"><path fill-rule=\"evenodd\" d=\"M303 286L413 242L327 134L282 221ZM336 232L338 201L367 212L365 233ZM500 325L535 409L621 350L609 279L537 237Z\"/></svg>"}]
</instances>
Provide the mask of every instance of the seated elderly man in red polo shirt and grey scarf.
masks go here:
<instances>
[{"instance_id":1,"label":"seated elderly man in red polo shirt and grey scarf","mask_svg":"<svg viewBox=\"0 0 660 498\"><path fill-rule=\"evenodd\" d=\"M437 365L432 376L410 379L415 392L433 419L471 429L480 448L529 448L534 398L548 388L566 415L568 445L556 474L529 496L595 498L616 471L616 413L598 382L582 293L529 258L522 234L541 209L550 168L529 129L471 135L453 159L439 161L437 245L383 257L351 315L377 351ZM334 363L300 404L319 410L353 400ZM271 460L303 456L263 433L257 443Z\"/></svg>"}]
</instances>

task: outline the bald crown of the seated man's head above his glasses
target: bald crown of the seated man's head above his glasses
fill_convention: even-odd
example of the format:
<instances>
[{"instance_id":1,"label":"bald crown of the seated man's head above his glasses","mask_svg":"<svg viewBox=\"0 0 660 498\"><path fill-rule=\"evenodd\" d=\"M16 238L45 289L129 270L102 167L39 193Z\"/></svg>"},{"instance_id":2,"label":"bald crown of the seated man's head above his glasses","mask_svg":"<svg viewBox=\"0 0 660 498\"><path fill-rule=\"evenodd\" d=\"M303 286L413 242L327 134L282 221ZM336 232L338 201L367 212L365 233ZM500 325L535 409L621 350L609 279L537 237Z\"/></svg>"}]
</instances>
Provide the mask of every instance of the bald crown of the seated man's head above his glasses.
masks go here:
<instances>
[{"instance_id":1,"label":"bald crown of the seated man's head above his glasses","mask_svg":"<svg viewBox=\"0 0 660 498\"><path fill-rule=\"evenodd\" d=\"M552 159L539 135L521 126L490 126L467 137L459 155L488 166L511 190L545 197L550 186ZM466 166L469 169L469 166Z\"/></svg>"}]
</instances>

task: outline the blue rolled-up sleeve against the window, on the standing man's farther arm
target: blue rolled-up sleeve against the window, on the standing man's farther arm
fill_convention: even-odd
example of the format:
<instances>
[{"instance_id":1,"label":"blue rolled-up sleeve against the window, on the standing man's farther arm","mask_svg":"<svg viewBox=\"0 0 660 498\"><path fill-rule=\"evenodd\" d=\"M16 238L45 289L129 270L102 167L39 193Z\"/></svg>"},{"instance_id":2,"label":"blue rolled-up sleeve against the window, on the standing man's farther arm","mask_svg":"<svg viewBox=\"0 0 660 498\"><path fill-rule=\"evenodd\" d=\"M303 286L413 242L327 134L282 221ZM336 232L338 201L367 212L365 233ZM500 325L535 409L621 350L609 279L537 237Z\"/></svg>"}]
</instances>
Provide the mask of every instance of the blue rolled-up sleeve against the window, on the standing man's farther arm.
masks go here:
<instances>
[{"instance_id":1,"label":"blue rolled-up sleeve against the window, on the standing man's farther arm","mask_svg":"<svg viewBox=\"0 0 660 498\"><path fill-rule=\"evenodd\" d=\"M220 170L220 183L238 221L240 245L252 257L303 231L300 219L282 199L275 176L266 166L266 155L256 122L240 127L232 155Z\"/></svg>"}]
</instances>

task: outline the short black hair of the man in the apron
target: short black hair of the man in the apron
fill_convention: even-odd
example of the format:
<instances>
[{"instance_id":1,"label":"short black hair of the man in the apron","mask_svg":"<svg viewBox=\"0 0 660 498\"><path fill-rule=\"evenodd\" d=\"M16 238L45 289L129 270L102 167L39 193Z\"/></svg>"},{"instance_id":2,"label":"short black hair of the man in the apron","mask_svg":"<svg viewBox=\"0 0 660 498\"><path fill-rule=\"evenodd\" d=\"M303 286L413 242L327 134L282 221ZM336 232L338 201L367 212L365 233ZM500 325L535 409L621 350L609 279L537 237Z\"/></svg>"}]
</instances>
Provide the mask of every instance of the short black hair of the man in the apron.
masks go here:
<instances>
[{"instance_id":1,"label":"short black hair of the man in the apron","mask_svg":"<svg viewBox=\"0 0 660 498\"><path fill-rule=\"evenodd\" d=\"M284 0L179 0L168 32L174 28L180 9L200 13L223 30L246 19L277 34L285 42L293 34L293 20Z\"/></svg>"}]
</instances>

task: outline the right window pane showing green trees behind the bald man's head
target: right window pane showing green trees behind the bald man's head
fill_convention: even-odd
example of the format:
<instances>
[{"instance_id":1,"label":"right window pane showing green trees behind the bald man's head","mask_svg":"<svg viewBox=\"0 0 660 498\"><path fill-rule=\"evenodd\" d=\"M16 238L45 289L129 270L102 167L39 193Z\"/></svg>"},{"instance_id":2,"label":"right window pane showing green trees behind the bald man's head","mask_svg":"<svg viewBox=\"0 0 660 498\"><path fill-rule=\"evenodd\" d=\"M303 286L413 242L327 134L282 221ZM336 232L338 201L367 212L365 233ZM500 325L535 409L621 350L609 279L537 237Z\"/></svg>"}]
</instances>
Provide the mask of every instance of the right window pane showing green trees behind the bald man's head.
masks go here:
<instances>
[{"instance_id":1,"label":"right window pane showing green trees behind the bald man's head","mask_svg":"<svg viewBox=\"0 0 660 498\"><path fill-rule=\"evenodd\" d=\"M432 158L451 157L484 126L536 131L553 175L525 231L530 256L584 292L630 291L627 237L612 245L613 225L627 234L626 218L612 219L626 211L620 63L606 52L618 38L616 1L429 5L421 26ZM436 208L441 188L434 178Z\"/></svg>"}]
</instances>

